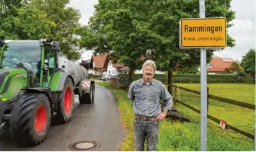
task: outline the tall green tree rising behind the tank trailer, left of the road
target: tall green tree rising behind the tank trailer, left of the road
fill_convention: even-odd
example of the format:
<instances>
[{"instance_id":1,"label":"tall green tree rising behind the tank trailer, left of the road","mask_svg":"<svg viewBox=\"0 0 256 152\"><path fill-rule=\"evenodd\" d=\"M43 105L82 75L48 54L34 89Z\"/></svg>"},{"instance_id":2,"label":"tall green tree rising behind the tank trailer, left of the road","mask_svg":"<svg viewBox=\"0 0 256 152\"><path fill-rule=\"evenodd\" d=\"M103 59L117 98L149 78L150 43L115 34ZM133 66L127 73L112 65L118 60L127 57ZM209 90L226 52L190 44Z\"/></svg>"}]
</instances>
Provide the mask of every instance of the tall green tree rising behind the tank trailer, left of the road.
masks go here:
<instances>
[{"instance_id":1,"label":"tall green tree rising behind the tank trailer, left of the road","mask_svg":"<svg viewBox=\"0 0 256 152\"><path fill-rule=\"evenodd\" d=\"M79 52L79 37L76 35L76 29L81 26L79 10L66 7L69 0L32 0L31 4L44 12L50 22L56 24L50 27L50 35L60 43L63 53L69 59L79 59L81 53Z\"/></svg>"}]
</instances>

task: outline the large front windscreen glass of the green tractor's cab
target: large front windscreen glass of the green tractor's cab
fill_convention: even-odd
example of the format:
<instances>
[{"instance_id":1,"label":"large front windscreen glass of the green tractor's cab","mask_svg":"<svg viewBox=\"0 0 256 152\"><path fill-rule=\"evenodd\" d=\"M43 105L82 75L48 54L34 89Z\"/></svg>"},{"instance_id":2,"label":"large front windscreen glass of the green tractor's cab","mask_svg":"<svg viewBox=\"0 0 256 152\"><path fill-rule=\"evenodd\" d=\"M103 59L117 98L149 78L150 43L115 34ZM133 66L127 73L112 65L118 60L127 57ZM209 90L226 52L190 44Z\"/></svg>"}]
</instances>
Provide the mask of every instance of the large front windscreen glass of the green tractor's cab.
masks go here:
<instances>
[{"instance_id":1,"label":"large front windscreen glass of the green tractor's cab","mask_svg":"<svg viewBox=\"0 0 256 152\"><path fill-rule=\"evenodd\" d=\"M25 68L30 75L30 85L39 85L40 43L37 41L14 41L4 48L1 68Z\"/></svg>"}]
</instances>

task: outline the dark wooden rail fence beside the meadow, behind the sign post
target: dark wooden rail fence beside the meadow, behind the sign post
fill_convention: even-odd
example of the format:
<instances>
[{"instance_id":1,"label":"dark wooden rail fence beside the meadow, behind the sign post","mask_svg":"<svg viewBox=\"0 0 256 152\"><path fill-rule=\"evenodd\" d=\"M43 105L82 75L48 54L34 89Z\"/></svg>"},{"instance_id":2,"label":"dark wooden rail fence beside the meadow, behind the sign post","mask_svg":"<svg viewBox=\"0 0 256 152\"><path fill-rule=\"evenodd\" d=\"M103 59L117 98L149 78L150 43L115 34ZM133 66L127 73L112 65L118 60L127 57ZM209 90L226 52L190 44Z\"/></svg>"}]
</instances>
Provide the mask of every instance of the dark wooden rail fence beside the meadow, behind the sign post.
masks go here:
<instances>
[{"instance_id":1,"label":"dark wooden rail fence beside the meadow, behind the sign post","mask_svg":"<svg viewBox=\"0 0 256 152\"><path fill-rule=\"evenodd\" d=\"M196 90L192 90L192 89L187 89L187 88L184 88L184 87L181 87L181 86L176 86L176 85L173 85L173 87L175 87L175 94L177 93L177 89L182 89L184 91L188 91L188 92L192 92L194 94L199 94L200 95L200 91L196 91ZM207 87L207 111L208 111L208 100L209 99L215 99L215 100L217 100L219 102L225 102L225 103L237 105L239 107L244 107L244 108L247 108L247 109L254 109L255 110L255 105L253 105L253 104L247 104L247 103L239 102L239 101L236 101L236 100L233 100L233 99L226 99L226 98L223 98L223 97L213 96L213 95L209 94L209 88ZM194 112L197 112L198 114L200 114L200 110L199 109L195 109L194 107L191 107L190 105L185 104L184 102L181 102L181 101L179 101L176 98L174 99L174 102L182 104L183 106L185 106L185 107L187 107L189 109L192 109ZM213 122L216 122L216 123L219 123L220 120L221 120L221 119L213 117L211 115L207 115L207 117L208 117L208 119L213 120ZM248 138L255 139L255 135L252 135L251 133L247 133L247 132L245 132L243 130L239 130L238 128L235 128L232 125L227 125L227 127L229 127L231 130L234 130L237 133L241 133L242 135L247 136Z\"/></svg>"}]
</instances>

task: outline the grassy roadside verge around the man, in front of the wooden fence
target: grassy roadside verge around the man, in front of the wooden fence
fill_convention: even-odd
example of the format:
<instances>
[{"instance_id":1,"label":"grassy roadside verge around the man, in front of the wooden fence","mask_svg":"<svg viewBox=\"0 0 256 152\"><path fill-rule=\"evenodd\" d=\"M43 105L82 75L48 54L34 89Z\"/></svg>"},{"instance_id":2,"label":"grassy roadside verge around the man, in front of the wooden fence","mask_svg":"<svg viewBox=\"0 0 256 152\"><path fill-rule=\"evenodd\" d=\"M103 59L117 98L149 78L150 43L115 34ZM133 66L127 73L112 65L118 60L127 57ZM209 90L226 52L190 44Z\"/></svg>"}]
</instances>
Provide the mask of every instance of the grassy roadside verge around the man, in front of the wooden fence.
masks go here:
<instances>
[{"instance_id":1,"label":"grassy roadside verge around the man, in front of the wooden fence","mask_svg":"<svg viewBox=\"0 0 256 152\"><path fill-rule=\"evenodd\" d=\"M128 101L128 92L116 89L110 82L97 82L110 89L118 100L121 120L128 134L120 144L119 151L135 151L133 140L133 110ZM177 105L184 115L198 117L198 114L190 109ZM159 143L157 151L200 151L200 122L191 119L192 122L179 122L164 120L160 122ZM235 138L234 138L235 137ZM252 151L253 141L244 138L243 135L232 133L230 130L221 130L215 122L208 121L208 151Z\"/></svg>"}]
</instances>

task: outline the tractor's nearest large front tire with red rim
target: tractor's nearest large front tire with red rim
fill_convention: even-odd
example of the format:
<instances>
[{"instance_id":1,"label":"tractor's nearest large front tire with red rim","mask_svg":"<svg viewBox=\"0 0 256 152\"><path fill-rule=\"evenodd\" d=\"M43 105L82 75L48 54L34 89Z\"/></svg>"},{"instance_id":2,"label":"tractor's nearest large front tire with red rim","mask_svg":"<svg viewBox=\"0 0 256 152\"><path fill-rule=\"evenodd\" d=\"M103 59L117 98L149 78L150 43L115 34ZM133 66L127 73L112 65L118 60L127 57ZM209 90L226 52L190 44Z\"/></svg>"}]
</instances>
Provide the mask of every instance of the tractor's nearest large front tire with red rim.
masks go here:
<instances>
[{"instance_id":1,"label":"tractor's nearest large front tire with red rim","mask_svg":"<svg viewBox=\"0 0 256 152\"><path fill-rule=\"evenodd\" d=\"M19 146L43 142L50 127L50 101L45 94L23 94L17 99L9 120L10 132Z\"/></svg>"}]
</instances>

